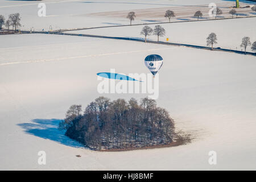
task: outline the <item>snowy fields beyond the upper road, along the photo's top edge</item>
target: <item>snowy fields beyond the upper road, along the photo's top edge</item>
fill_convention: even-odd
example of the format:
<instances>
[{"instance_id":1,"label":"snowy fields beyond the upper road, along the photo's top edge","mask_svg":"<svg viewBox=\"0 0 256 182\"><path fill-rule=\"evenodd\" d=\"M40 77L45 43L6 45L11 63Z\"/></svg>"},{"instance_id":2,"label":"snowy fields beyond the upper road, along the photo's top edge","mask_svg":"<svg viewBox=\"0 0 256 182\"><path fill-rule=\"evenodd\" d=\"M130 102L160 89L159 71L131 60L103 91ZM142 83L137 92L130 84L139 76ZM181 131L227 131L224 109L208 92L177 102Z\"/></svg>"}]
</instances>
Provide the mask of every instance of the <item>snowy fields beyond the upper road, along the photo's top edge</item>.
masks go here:
<instances>
[{"instance_id":1,"label":"snowy fields beyond the upper road, along the photo's top edge","mask_svg":"<svg viewBox=\"0 0 256 182\"><path fill-rule=\"evenodd\" d=\"M46 17L38 16L38 4L46 3ZM9 14L20 13L22 16L20 27L21 30L45 30L48 31L51 26L53 30L64 28L78 28L78 27L97 27L109 26L115 24L129 24L129 20L122 16L92 16L93 13L105 13L109 11L130 11L141 9L158 9L177 7L184 7L190 9L190 6L207 7L209 3L216 3L217 5L233 6L234 2L222 0L43 0L43 1L6 1L0 0L0 12L7 19ZM252 5L254 2L241 1L243 5ZM195 9L195 7L191 7ZM165 10L163 10L164 14ZM205 11L207 12L207 11ZM204 12L204 13L205 13ZM251 15L251 14L248 14ZM177 17L178 18L178 17ZM149 18L150 21L152 18ZM195 19L195 18L192 18ZM156 18L156 20L161 20ZM135 19L134 23L150 23L146 17L139 17ZM166 19L165 19L166 21Z\"/></svg>"}]
</instances>

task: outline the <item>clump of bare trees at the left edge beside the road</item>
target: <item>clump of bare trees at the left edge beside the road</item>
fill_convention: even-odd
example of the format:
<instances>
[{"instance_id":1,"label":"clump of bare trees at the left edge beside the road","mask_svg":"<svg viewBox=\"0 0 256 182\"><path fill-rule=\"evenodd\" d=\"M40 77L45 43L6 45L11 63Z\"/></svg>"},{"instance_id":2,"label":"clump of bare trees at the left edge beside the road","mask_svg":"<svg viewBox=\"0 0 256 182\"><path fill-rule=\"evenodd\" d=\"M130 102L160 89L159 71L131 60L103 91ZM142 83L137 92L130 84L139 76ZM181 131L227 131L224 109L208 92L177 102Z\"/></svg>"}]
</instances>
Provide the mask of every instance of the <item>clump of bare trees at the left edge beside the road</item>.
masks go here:
<instances>
[{"instance_id":1,"label":"clump of bare trees at the left edge beside the road","mask_svg":"<svg viewBox=\"0 0 256 182\"><path fill-rule=\"evenodd\" d=\"M19 13L10 14L9 19L7 19L6 21L5 21L5 17L3 15L0 15L0 30L2 30L3 25L5 25L7 30L10 30L10 26L12 26L15 32L16 29L19 26L21 26Z\"/></svg>"}]
</instances>

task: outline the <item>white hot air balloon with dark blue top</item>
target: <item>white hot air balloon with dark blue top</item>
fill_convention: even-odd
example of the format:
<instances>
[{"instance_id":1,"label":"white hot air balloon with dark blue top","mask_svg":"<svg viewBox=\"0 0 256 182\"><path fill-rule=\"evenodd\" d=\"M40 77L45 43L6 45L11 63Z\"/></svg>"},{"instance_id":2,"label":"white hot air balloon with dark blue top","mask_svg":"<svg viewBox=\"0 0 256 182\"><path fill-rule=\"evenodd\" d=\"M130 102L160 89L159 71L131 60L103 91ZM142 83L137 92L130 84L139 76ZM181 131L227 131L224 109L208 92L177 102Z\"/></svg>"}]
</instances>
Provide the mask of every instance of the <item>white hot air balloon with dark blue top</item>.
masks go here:
<instances>
[{"instance_id":1,"label":"white hot air balloon with dark blue top","mask_svg":"<svg viewBox=\"0 0 256 182\"><path fill-rule=\"evenodd\" d=\"M148 55L145 58L145 65L155 77L163 65L163 58L159 55Z\"/></svg>"}]
</instances>

